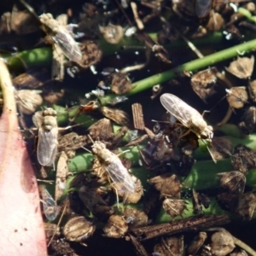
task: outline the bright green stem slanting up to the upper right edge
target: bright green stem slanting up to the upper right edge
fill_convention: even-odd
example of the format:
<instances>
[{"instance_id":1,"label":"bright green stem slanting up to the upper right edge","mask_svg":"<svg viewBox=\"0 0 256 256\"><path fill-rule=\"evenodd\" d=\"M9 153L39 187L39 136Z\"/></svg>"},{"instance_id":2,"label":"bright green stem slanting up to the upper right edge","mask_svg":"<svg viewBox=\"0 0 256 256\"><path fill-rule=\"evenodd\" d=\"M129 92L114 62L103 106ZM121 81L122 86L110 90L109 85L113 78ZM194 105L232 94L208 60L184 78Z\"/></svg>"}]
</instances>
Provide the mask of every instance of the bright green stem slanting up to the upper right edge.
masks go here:
<instances>
[{"instance_id":1,"label":"bright green stem slanting up to the upper right edge","mask_svg":"<svg viewBox=\"0 0 256 256\"><path fill-rule=\"evenodd\" d=\"M220 61L225 61L230 58L236 57L240 52L250 52L256 49L256 39L248 41L247 43L238 44L228 49L220 50L212 55L207 55L202 59L196 59L195 61L189 61L180 66L174 67L163 73L155 74L154 76L148 77L133 83L133 89L130 90L125 96L132 96L143 90L148 90L155 84L162 84L170 79L174 79L184 71L194 72L204 67L212 66ZM115 96L108 95L101 98L102 105L112 102Z\"/></svg>"}]
</instances>

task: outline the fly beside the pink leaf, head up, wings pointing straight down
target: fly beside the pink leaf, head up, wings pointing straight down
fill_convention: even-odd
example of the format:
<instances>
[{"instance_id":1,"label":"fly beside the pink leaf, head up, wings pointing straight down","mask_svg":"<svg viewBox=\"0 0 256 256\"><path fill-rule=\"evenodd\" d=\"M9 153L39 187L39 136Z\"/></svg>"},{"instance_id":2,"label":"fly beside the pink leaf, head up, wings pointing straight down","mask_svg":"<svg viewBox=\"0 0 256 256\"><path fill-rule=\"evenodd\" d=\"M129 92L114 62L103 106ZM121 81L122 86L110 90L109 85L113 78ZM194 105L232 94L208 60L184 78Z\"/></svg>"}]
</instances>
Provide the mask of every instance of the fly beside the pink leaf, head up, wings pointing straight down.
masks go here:
<instances>
[{"instance_id":1,"label":"fly beside the pink leaf, head up, wings pointing straight down","mask_svg":"<svg viewBox=\"0 0 256 256\"><path fill-rule=\"evenodd\" d=\"M34 125L38 128L38 162L41 166L52 166L58 148L58 125L56 111L46 108L32 116Z\"/></svg>"}]
</instances>

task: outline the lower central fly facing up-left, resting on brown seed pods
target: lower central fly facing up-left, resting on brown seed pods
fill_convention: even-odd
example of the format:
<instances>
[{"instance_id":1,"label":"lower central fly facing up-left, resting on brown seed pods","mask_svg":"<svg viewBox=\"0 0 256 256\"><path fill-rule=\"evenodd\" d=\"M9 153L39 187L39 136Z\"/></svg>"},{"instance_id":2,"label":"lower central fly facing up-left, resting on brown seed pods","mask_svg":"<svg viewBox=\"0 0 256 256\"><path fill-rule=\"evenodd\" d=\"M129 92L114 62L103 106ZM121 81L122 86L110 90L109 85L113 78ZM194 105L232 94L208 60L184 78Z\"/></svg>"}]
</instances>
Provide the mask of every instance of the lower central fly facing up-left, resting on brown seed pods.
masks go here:
<instances>
[{"instance_id":1,"label":"lower central fly facing up-left, resting on brown seed pods","mask_svg":"<svg viewBox=\"0 0 256 256\"><path fill-rule=\"evenodd\" d=\"M96 141L91 146L91 151L96 155L96 158L108 172L108 176L113 182L113 188L129 195L134 193L136 184L134 183L131 174L122 164L118 155L113 154L104 143ZM117 191L117 194L118 194Z\"/></svg>"}]
</instances>

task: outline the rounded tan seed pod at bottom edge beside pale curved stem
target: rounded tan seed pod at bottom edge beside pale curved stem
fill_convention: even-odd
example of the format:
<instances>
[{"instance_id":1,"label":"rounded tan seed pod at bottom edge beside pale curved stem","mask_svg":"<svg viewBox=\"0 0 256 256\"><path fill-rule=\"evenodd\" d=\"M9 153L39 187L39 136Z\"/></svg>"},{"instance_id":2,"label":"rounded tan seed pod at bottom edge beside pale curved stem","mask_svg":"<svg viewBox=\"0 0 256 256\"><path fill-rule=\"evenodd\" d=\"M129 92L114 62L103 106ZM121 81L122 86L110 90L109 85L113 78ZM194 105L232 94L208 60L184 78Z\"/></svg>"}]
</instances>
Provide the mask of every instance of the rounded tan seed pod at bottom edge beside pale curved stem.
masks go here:
<instances>
[{"instance_id":1,"label":"rounded tan seed pod at bottom edge beside pale curved stem","mask_svg":"<svg viewBox=\"0 0 256 256\"><path fill-rule=\"evenodd\" d=\"M227 230L222 229L212 234L211 248L213 255L225 256L231 253L235 247L233 236Z\"/></svg>"}]
</instances>

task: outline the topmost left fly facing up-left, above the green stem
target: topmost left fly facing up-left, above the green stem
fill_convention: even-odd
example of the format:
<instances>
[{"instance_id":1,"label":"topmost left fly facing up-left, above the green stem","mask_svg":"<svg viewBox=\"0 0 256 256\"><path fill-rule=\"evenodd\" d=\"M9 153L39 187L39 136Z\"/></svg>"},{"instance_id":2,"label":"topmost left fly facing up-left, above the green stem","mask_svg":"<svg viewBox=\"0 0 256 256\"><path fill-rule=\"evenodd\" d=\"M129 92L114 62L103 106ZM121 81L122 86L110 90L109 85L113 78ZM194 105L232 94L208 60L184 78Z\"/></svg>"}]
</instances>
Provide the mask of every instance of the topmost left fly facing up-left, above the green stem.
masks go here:
<instances>
[{"instance_id":1,"label":"topmost left fly facing up-left, above the green stem","mask_svg":"<svg viewBox=\"0 0 256 256\"><path fill-rule=\"evenodd\" d=\"M53 39L70 61L79 62L82 60L79 44L74 40L66 26L61 26L51 14L40 15L39 20L44 32Z\"/></svg>"}]
</instances>

